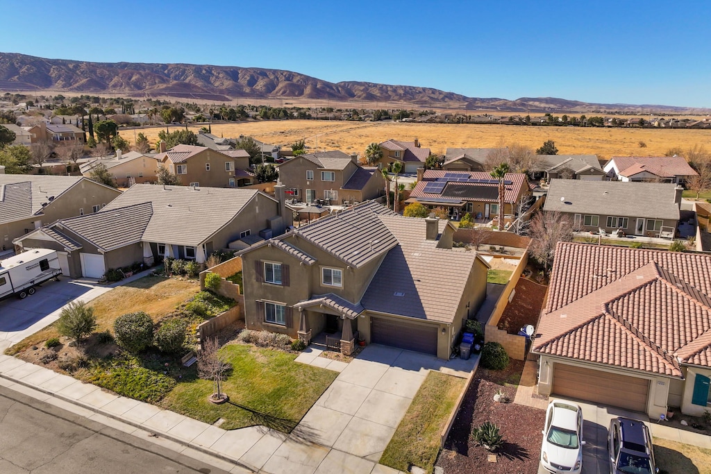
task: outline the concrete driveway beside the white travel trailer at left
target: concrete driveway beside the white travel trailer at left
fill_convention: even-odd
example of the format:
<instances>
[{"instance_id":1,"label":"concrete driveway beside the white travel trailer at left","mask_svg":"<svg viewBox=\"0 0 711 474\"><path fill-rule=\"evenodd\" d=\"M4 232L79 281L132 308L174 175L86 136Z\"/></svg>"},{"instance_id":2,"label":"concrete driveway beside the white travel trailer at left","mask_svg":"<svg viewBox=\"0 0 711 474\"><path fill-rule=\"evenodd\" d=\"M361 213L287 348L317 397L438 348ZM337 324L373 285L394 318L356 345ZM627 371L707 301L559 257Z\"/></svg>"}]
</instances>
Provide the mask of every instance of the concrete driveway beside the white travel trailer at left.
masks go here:
<instances>
[{"instance_id":1,"label":"concrete driveway beside the white travel trailer at left","mask_svg":"<svg viewBox=\"0 0 711 474\"><path fill-rule=\"evenodd\" d=\"M90 301L110 289L60 276L60 281L46 281L25 299L0 301L0 352L57 321L70 301Z\"/></svg>"}]
</instances>

